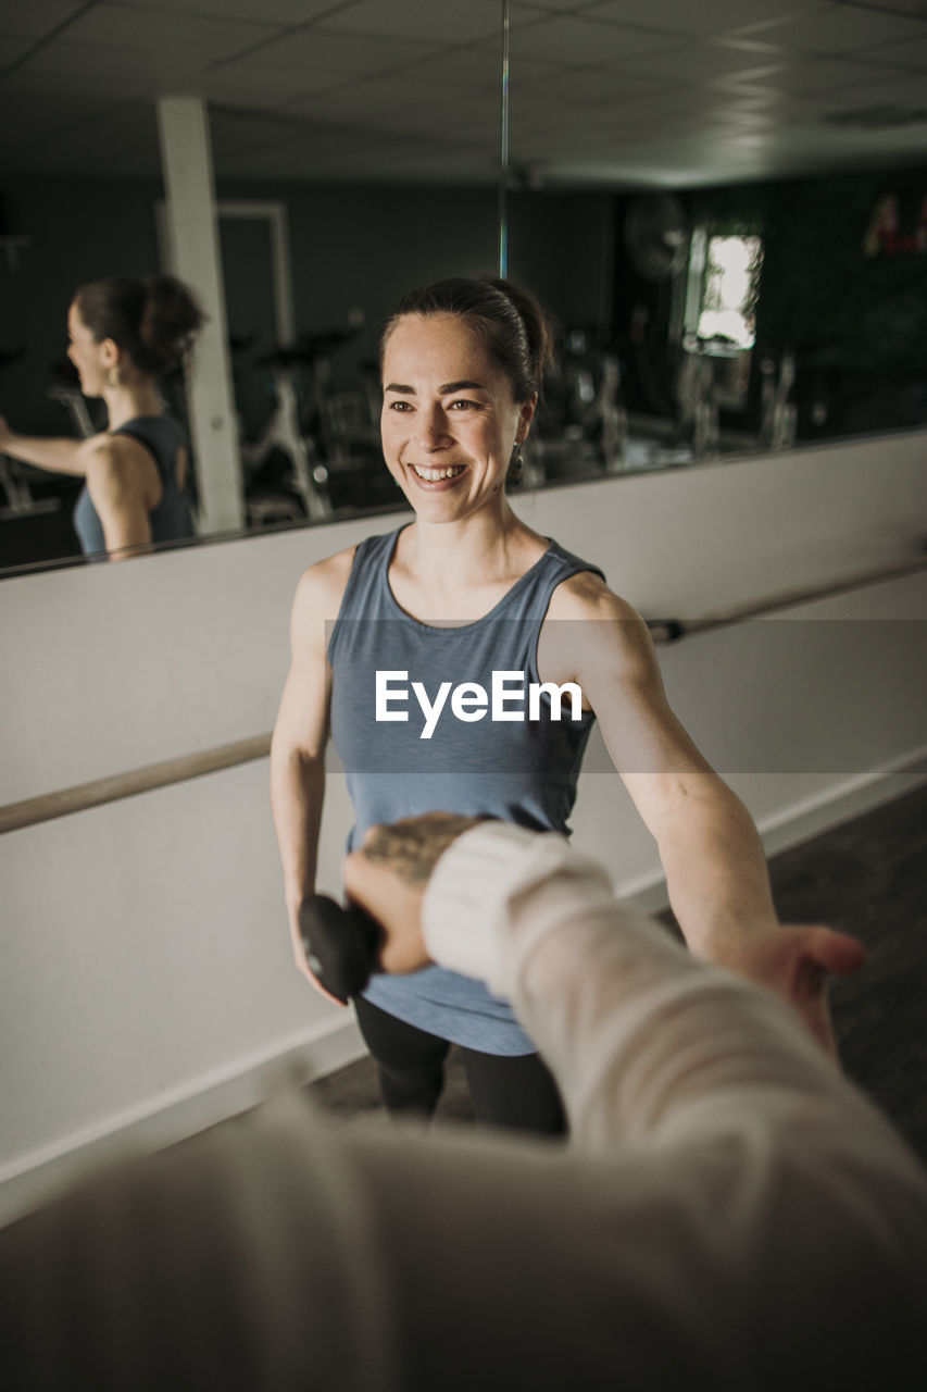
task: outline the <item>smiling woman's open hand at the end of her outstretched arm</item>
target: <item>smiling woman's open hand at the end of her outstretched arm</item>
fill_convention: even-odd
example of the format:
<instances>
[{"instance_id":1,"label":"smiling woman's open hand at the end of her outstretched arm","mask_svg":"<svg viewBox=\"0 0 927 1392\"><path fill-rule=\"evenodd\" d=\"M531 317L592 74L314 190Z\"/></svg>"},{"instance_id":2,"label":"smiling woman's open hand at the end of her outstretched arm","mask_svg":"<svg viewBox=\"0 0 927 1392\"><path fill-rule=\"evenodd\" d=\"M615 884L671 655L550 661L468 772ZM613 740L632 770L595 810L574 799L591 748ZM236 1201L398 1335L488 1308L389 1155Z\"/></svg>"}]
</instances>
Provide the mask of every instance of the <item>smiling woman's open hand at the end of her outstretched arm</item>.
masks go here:
<instances>
[{"instance_id":1,"label":"smiling woman's open hand at the end of her outstretched arm","mask_svg":"<svg viewBox=\"0 0 927 1392\"><path fill-rule=\"evenodd\" d=\"M864 960L866 948L856 938L802 923L746 938L735 970L784 997L824 1051L837 1059L828 980L852 976Z\"/></svg>"}]
</instances>

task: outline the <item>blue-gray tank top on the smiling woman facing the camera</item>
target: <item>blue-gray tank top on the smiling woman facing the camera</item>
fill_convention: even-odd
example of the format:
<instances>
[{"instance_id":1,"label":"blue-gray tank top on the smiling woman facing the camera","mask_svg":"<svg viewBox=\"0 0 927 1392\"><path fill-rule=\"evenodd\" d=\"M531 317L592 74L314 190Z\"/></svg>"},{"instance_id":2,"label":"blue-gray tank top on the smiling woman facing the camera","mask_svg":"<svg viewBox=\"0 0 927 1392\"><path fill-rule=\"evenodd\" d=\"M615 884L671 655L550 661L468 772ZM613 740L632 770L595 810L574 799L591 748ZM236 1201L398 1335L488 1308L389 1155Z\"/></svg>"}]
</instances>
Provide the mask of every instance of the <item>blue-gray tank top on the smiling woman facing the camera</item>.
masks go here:
<instances>
[{"instance_id":1,"label":"blue-gray tank top on the smiling woman facing the camera","mask_svg":"<svg viewBox=\"0 0 927 1392\"><path fill-rule=\"evenodd\" d=\"M532 710L530 688L540 686L537 639L555 587L579 571L601 571L551 541L483 618L436 628L411 618L393 596L398 535L358 547L328 640L331 739L356 817L348 848L374 823L434 810L568 834L594 715L573 720L565 693L555 720L543 690ZM466 1048L534 1051L507 1001L444 967L376 976L365 994Z\"/></svg>"}]
</instances>

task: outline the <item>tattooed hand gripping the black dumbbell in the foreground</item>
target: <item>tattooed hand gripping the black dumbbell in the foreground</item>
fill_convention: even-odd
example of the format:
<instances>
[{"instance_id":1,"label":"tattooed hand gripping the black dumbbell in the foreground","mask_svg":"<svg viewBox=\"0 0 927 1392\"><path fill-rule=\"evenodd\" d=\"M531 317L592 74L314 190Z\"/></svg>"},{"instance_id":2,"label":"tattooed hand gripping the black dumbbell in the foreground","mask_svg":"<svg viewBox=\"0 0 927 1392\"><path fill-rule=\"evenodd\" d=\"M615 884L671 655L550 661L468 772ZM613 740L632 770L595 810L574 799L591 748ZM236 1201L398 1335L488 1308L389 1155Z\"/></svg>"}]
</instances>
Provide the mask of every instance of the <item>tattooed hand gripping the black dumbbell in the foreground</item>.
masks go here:
<instances>
[{"instance_id":1,"label":"tattooed hand gripping the black dumbbell in the foreground","mask_svg":"<svg viewBox=\"0 0 927 1392\"><path fill-rule=\"evenodd\" d=\"M344 887L354 903L383 927L384 972L418 972L430 958L422 931L425 891L438 857L476 817L429 812L390 825L370 827L359 851L344 863Z\"/></svg>"}]
</instances>

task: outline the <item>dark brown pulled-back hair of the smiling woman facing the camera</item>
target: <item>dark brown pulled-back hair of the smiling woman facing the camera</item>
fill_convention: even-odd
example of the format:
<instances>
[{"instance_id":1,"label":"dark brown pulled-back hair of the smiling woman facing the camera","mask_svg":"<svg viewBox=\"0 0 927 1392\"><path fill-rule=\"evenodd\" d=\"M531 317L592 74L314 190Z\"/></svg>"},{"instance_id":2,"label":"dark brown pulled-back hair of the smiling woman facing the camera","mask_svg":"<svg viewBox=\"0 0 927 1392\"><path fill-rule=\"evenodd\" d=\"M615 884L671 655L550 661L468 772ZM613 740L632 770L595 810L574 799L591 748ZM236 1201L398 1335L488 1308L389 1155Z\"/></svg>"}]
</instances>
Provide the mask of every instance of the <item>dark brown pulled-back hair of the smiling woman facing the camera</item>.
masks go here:
<instances>
[{"instance_id":1,"label":"dark brown pulled-back hair of the smiling woman facing the camera","mask_svg":"<svg viewBox=\"0 0 927 1392\"><path fill-rule=\"evenodd\" d=\"M380 355L390 334L408 315L457 315L483 341L512 386L515 401L540 393L553 366L553 331L534 295L511 280L469 280L452 276L404 295L383 330Z\"/></svg>"}]
</instances>

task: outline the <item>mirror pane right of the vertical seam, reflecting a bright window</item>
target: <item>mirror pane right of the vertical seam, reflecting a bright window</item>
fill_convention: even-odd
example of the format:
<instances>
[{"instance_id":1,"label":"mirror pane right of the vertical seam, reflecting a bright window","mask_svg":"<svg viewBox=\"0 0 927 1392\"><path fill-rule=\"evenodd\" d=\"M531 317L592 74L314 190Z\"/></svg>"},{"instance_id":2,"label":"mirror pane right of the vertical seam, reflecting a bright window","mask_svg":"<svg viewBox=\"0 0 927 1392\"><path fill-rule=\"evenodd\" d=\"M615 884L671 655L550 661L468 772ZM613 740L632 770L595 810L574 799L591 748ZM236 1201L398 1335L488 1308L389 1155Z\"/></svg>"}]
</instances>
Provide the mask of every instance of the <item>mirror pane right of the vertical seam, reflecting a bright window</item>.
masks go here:
<instances>
[{"instance_id":1,"label":"mirror pane right of the vertical seam, reflecting a bright window","mask_svg":"<svg viewBox=\"0 0 927 1392\"><path fill-rule=\"evenodd\" d=\"M586 199L551 482L927 425L924 39L923 6L853 0L628 0L516 35L512 223Z\"/></svg>"}]
</instances>

